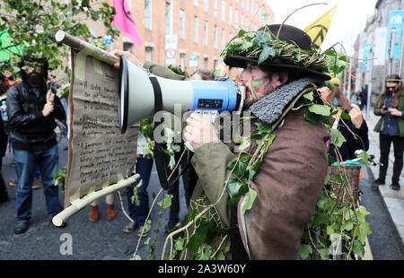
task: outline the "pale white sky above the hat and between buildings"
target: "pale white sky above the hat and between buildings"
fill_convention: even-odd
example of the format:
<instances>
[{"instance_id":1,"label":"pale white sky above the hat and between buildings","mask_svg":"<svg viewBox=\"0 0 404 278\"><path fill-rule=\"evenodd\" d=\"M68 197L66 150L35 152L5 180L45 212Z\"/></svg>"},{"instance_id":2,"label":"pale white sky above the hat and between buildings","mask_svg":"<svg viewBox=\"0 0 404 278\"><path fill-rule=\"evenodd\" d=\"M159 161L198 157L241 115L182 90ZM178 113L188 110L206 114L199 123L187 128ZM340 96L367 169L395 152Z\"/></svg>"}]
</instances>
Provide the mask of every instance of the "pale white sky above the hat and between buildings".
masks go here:
<instances>
[{"instance_id":1,"label":"pale white sky above the hat and between buildings","mask_svg":"<svg viewBox=\"0 0 404 278\"><path fill-rule=\"evenodd\" d=\"M374 13L377 0L266 0L266 2L275 13L275 23L284 22L290 13L304 5L319 3L297 11L285 22L302 30L337 4L337 11L321 50L340 42L347 50L347 54L353 55L356 37L361 30L364 30L367 17Z\"/></svg>"}]
</instances>

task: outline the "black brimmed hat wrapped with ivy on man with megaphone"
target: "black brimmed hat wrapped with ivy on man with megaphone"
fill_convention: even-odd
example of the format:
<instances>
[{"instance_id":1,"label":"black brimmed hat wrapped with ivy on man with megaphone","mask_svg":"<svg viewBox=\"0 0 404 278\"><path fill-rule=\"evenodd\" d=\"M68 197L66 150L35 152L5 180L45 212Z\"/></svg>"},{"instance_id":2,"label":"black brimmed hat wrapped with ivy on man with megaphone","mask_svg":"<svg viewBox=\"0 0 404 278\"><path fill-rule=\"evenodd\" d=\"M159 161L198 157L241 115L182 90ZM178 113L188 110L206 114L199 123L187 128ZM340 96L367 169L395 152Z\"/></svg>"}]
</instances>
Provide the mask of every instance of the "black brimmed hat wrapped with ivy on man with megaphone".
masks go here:
<instances>
[{"instance_id":1,"label":"black brimmed hat wrapped with ivy on man with megaphone","mask_svg":"<svg viewBox=\"0 0 404 278\"><path fill-rule=\"evenodd\" d=\"M279 30L280 29L280 30ZM294 26L291 25L281 25L281 24L272 24L267 25L259 30L269 30L273 36L277 36L277 39L283 40L288 43L294 43L302 50L311 51L312 48L312 39L310 36ZM258 57L248 57L248 56L225 56L224 63L230 66L242 67L246 68L248 64L258 65L259 58ZM296 65L293 61L282 59L282 57L278 57L277 60L267 59L261 64L259 67L263 69L284 69L290 72L298 72L298 73L306 73L311 74L317 77L320 77L322 80L327 81L330 79L330 76L327 74L323 74L320 71L303 67L300 65Z\"/></svg>"}]
</instances>

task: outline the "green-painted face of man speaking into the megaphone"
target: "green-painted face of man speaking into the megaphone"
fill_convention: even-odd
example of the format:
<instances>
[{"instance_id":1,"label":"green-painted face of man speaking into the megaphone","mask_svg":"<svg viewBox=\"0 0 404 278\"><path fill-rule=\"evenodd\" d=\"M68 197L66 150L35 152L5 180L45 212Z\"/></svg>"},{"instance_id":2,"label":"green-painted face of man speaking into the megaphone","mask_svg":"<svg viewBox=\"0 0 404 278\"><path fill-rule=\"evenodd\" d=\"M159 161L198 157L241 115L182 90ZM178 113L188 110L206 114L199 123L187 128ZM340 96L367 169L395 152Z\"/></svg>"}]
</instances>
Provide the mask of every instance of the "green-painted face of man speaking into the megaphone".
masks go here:
<instances>
[{"instance_id":1,"label":"green-painted face of man speaking into the megaphone","mask_svg":"<svg viewBox=\"0 0 404 278\"><path fill-rule=\"evenodd\" d=\"M259 66L249 64L240 76L242 85L246 87L246 105L249 107L255 101L277 90L278 77L278 74L265 73Z\"/></svg>"}]
</instances>

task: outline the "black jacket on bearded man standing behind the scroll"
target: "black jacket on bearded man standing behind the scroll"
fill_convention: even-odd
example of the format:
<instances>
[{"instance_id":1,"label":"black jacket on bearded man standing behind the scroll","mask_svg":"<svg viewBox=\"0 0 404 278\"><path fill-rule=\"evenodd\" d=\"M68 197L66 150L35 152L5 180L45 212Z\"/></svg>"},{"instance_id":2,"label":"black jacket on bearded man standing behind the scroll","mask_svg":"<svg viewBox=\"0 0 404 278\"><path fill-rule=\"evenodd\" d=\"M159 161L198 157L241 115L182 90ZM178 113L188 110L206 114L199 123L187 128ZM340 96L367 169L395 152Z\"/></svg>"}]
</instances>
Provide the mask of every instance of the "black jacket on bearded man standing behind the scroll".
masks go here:
<instances>
[{"instance_id":1,"label":"black jacket on bearded man standing behind the scroll","mask_svg":"<svg viewBox=\"0 0 404 278\"><path fill-rule=\"evenodd\" d=\"M65 109L55 96L55 109L43 117L46 88L40 89L40 97L26 83L10 88L7 93L7 114L13 148L24 151L44 151L57 144L55 117L63 120Z\"/></svg>"}]
</instances>

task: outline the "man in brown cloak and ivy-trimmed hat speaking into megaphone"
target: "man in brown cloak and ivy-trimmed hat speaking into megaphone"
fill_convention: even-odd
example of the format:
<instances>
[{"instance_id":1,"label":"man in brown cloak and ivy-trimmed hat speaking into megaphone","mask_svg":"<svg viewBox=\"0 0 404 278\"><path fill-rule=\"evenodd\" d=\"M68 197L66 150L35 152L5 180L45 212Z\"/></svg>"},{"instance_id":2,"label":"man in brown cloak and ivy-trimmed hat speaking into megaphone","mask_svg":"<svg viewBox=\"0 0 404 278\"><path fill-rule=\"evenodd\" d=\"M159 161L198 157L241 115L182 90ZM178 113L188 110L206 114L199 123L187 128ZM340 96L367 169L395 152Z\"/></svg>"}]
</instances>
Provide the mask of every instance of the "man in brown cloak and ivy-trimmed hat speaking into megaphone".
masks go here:
<instances>
[{"instance_id":1,"label":"man in brown cloak and ivy-trimmed hat speaking into megaphone","mask_svg":"<svg viewBox=\"0 0 404 278\"><path fill-rule=\"evenodd\" d=\"M312 49L312 40L303 30L285 24L266 28L290 47ZM274 41L277 39L268 40L268 44ZM293 100L305 88L312 88L313 93L319 94L312 83L322 86L329 76L318 68L294 65L295 60L285 61L277 57L274 64L271 61L268 58L258 65L258 57L247 57L240 52L224 56L226 65L245 69L241 76L241 83L246 86L249 96L245 108L249 108L253 115L272 125L284 117L283 110L288 111L277 127L276 139L264 154L258 178L249 182L258 195L247 213L241 213L248 201L246 196L241 197L238 208L228 206L229 195L224 190L230 173L227 167L238 156L219 141L215 127L204 117L193 113L187 119L185 139L195 149L192 164L198 174L191 204L204 195L207 201L203 204L215 204L221 222L231 229L233 259L294 259L304 225L312 217L327 175L328 130L320 123L312 124L306 120L304 106L298 102L295 109L288 106L294 105ZM203 138L209 134L210 137ZM251 138L250 146L254 145L256 143ZM250 153L254 153L254 149ZM221 242L221 239L213 241Z\"/></svg>"}]
</instances>

